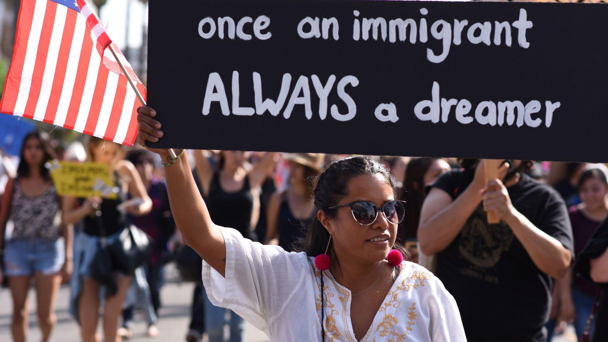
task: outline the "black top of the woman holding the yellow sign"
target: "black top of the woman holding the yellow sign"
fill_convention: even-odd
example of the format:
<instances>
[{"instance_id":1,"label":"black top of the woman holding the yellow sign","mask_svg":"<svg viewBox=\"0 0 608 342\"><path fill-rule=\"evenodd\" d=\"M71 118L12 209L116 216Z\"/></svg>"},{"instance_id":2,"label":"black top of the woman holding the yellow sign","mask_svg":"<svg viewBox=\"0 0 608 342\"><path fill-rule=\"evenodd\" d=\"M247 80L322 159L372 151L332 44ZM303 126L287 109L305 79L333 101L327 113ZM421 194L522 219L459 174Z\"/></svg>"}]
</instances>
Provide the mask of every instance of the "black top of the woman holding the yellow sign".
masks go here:
<instances>
[{"instance_id":1,"label":"black top of the woman holding the yellow sign","mask_svg":"<svg viewBox=\"0 0 608 342\"><path fill-rule=\"evenodd\" d=\"M126 200L126 194L122 191L122 186L118 181L118 175L114 175L114 186L118 188L118 194L116 200L108 200L104 198L101 205L102 215L95 217L88 215L85 217L84 231L90 236L111 236L129 225L128 217L126 212L122 213L118 211L117 206ZM105 234L102 233L102 228L105 230Z\"/></svg>"}]
</instances>

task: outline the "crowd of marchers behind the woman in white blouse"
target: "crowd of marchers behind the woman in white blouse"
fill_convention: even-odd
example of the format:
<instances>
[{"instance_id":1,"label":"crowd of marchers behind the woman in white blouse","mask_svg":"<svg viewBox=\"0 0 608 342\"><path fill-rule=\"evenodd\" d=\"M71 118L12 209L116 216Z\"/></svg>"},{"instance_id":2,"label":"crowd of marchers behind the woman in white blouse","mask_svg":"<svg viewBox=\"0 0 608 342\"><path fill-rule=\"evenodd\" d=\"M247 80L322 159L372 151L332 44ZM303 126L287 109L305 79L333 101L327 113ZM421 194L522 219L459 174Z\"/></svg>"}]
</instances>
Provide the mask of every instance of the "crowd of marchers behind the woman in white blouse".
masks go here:
<instances>
[{"instance_id":1,"label":"crowd of marchers behind the woman in white blouse","mask_svg":"<svg viewBox=\"0 0 608 342\"><path fill-rule=\"evenodd\" d=\"M116 199L59 197L46 164L57 156L40 131L24 139L18 167L2 156L0 276L13 299L13 340L26 341L32 282L43 342L57 321L62 282L70 283L70 311L83 341L100 341L100 306L105 341L133 336L137 308L145 313L147 336L158 337L164 267L175 260L182 279L196 283L186 340L243 341L244 319L213 305L202 286L202 259L176 229L158 156L97 138L85 146L85 155L78 145L66 148L63 159L106 164ZM213 222L285 251L300 250L316 217L317 175L342 158L187 153ZM454 296L468 341L550 341L567 324L579 339L589 334L590 341L608 340L606 166L509 160L500 164L499 180L486 184L485 164L475 159L373 159L390 167L398 200L406 202L397 241L410 261L432 271ZM488 224L487 211L500 223ZM100 242L117 239L130 225L150 236L153 251L132 274L114 270L100 283L91 275ZM592 312L595 319L589 319Z\"/></svg>"}]
</instances>

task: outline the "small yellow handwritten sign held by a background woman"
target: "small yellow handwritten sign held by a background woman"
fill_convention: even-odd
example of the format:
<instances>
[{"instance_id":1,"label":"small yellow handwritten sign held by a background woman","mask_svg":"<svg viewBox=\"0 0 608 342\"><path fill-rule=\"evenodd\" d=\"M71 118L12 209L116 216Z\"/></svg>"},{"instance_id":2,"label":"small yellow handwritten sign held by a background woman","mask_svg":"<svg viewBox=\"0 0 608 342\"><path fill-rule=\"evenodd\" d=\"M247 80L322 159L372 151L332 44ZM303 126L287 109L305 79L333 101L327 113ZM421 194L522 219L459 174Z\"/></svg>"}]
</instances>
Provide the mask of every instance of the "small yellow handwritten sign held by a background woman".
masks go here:
<instances>
[{"instance_id":1,"label":"small yellow handwritten sign held by a background woman","mask_svg":"<svg viewBox=\"0 0 608 342\"><path fill-rule=\"evenodd\" d=\"M116 199L109 168L97 162L54 161L49 166L50 176L60 196L89 198L99 196Z\"/></svg>"}]
</instances>

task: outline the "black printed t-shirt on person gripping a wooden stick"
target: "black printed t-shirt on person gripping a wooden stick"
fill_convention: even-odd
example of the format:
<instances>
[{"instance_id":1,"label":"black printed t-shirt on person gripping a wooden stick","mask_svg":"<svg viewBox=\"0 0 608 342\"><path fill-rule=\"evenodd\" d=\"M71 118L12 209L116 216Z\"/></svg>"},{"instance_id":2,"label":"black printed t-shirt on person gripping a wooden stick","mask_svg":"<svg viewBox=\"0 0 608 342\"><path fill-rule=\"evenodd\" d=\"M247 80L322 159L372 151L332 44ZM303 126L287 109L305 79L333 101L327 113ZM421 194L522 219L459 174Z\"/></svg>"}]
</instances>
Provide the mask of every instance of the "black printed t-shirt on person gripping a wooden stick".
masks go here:
<instances>
[{"instance_id":1,"label":"black printed t-shirt on person gripping a wooden stick","mask_svg":"<svg viewBox=\"0 0 608 342\"><path fill-rule=\"evenodd\" d=\"M451 170L432 187L455 199L473 176ZM572 251L568 211L558 192L528 175L507 190L517 211ZM456 299L469 342L547 339L551 277L534 265L506 223L488 225L482 204L437 254L437 276Z\"/></svg>"}]
</instances>

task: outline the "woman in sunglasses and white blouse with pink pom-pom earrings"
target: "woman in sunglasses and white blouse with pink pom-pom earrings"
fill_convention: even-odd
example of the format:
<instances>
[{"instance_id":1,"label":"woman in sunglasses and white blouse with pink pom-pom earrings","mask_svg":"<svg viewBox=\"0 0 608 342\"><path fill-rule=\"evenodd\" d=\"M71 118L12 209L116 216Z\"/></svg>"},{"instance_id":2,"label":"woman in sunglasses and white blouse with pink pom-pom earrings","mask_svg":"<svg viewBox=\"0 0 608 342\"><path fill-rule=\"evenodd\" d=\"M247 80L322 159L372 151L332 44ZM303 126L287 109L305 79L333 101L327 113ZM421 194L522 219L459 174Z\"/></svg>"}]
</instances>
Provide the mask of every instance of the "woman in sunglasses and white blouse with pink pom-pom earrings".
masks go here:
<instances>
[{"instance_id":1,"label":"woman in sunglasses and white blouse with pink pom-pom earrings","mask_svg":"<svg viewBox=\"0 0 608 342\"><path fill-rule=\"evenodd\" d=\"M154 116L139 108L142 146L162 137ZM316 214L302 252L287 253L216 225L184 153L173 159L167 150L151 151L166 163L173 215L204 260L209 299L271 341L466 341L454 298L395 245L404 206L379 162L354 156L326 167L316 180Z\"/></svg>"}]
</instances>

